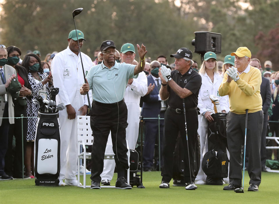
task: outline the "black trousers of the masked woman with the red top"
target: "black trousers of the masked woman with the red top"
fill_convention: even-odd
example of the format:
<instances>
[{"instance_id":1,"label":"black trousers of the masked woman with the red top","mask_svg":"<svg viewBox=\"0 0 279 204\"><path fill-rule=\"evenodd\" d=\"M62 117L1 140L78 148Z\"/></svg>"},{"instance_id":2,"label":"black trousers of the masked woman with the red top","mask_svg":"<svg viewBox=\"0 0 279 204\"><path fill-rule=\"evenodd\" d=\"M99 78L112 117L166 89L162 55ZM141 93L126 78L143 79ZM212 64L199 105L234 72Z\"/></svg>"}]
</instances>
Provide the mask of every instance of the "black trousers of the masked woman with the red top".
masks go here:
<instances>
[{"instance_id":1,"label":"black trousers of the masked woman with the red top","mask_svg":"<svg viewBox=\"0 0 279 204\"><path fill-rule=\"evenodd\" d=\"M15 117L27 117L26 107L15 102ZM26 135L28 128L27 118L23 122L23 152L25 152ZM15 136L15 150L12 149L12 139ZM8 149L5 156L5 172L14 178L22 178L22 126L21 118L15 119L15 124L10 125L8 134Z\"/></svg>"}]
</instances>

